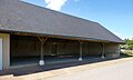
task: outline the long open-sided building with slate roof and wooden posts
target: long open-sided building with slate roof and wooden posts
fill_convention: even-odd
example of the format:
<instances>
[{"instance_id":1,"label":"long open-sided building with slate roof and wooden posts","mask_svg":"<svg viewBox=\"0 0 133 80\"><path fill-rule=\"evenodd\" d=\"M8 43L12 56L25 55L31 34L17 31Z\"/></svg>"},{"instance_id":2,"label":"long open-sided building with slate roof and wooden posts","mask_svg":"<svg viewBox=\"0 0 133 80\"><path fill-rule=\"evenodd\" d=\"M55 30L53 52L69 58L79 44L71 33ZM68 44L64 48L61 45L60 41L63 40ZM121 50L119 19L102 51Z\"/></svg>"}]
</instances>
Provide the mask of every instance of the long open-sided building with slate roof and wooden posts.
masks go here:
<instances>
[{"instance_id":1,"label":"long open-sided building with slate roof and wooden posts","mask_svg":"<svg viewBox=\"0 0 133 80\"><path fill-rule=\"evenodd\" d=\"M116 58L121 43L98 22L19 0L0 0L0 70L31 58L39 64L47 57Z\"/></svg>"}]
</instances>

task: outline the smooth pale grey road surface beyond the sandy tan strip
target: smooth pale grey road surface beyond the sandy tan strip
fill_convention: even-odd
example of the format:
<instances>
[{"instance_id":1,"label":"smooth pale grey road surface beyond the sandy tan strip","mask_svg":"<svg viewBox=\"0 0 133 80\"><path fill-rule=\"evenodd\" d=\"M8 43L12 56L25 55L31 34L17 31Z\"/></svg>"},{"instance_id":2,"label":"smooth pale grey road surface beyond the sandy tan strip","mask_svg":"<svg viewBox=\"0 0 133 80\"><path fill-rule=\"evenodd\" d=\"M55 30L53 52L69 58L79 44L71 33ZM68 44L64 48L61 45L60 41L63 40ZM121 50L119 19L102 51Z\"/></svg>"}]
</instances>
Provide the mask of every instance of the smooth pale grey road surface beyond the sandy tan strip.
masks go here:
<instances>
[{"instance_id":1,"label":"smooth pale grey road surface beyond the sandy tan strip","mask_svg":"<svg viewBox=\"0 0 133 80\"><path fill-rule=\"evenodd\" d=\"M47 80L133 80L133 60Z\"/></svg>"}]
</instances>

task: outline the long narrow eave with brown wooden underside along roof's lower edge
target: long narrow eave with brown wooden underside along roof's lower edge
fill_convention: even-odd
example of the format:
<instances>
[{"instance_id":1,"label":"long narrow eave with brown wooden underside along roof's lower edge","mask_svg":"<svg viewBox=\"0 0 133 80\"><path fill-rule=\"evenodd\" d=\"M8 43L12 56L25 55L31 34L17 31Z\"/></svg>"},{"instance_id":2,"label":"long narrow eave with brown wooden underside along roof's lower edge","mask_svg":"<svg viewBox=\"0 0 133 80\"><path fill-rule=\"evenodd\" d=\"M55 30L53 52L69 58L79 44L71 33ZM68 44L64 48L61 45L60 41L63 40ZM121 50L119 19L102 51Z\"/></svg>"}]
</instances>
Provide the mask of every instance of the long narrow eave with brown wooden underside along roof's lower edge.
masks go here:
<instances>
[{"instance_id":1,"label":"long narrow eave with brown wooden underside along roof's lower edge","mask_svg":"<svg viewBox=\"0 0 133 80\"><path fill-rule=\"evenodd\" d=\"M124 44L125 42L115 42L95 38L83 38L83 37L72 37L72 36L59 36L59 34L47 34L47 33L34 33L34 32L25 32L25 31L13 31L13 30L0 30L1 33L10 33L18 36L30 36L30 37L49 37L49 38L58 38L58 39L66 39L66 40L78 40L78 41L93 41L93 42L104 42L104 43L120 43Z\"/></svg>"}]
</instances>

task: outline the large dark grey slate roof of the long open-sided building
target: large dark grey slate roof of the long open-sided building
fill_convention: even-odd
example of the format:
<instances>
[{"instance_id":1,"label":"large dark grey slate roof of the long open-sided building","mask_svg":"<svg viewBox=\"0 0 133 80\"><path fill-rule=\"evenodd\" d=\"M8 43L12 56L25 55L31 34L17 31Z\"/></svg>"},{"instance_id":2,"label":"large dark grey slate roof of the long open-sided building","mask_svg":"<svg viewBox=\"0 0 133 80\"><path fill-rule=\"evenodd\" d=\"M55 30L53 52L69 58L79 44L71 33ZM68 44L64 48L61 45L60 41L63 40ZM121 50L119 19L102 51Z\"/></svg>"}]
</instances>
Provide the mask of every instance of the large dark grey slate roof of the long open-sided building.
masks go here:
<instances>
[{"instance_id":1,"label":"large dark grey slate roof of the long open-sided building","mask_svg":"<svg viewBox=\"0 0 133 80\"><path fill-rule=\"evenodd\" d=\"M19 0L0 0L0 31L7 30L123 42L98 22Z\"/></svg>"}]
</instances>

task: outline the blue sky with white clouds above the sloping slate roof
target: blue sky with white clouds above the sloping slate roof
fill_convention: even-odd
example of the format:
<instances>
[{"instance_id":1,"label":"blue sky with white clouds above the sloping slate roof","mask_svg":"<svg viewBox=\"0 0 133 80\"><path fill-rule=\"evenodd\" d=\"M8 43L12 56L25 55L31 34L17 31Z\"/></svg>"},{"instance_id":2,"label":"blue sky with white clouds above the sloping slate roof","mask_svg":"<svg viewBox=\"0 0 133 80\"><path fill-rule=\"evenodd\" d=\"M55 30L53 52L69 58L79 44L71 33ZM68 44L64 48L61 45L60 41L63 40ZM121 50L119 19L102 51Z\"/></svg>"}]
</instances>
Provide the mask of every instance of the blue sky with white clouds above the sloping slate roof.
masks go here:
<instances>
[{"instance_id":1,"label":"blue sky with white clouds above the sloping slate roof","mask_svg":"<svg viewBox=\"0 0 133 80\"><path fill-rule=\"evenodd\" d=\"M22 0L101 23L121 39L133 38L133 0Z\"/></svg>"}]
</instances>

